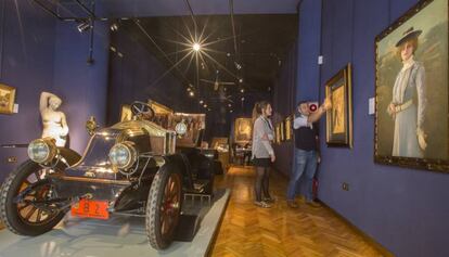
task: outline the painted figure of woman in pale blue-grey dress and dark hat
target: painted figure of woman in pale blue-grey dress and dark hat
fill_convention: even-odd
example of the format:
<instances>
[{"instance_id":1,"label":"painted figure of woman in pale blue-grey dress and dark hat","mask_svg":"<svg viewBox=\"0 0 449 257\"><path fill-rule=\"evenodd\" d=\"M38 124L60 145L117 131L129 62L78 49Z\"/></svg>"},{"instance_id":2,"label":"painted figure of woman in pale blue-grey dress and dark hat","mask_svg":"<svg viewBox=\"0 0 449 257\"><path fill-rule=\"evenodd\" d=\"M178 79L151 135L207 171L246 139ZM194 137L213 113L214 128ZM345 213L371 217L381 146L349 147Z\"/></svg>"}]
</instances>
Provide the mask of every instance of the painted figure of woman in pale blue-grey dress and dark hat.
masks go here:
<instances>
[{"instance_id":1,"label":"painted figure of woman in pale blue-grey dress and dark hat","mask_svg":"<svg viewBox=\"0 0 449 257\"><path fill-rule=\"evenodd\" d=\"M422 158L427 147L423 130L426 108L425 69L414 60L422 30L409 28L396 43L402 68L393 87L388 114L395 120L393 156Z\"/></svg>"}]
</instances>

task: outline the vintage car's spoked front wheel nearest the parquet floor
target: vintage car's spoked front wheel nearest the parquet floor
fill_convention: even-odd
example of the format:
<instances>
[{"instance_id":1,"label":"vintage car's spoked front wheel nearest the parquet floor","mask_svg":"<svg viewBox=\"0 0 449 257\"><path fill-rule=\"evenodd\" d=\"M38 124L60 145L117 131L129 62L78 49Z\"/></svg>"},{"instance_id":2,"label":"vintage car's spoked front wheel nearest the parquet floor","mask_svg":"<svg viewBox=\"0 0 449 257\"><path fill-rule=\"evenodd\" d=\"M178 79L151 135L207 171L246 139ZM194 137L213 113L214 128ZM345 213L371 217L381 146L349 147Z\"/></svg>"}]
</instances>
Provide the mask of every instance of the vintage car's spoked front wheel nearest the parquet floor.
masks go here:
<instances>
[{"instance_id":1,"label":"vintage car's spoked front wheel nearest the parquet floor","mask_svg":"<svg viewBox=\"0 0 449 257\"><path fill-rule=\"evenodd\" d=\"M164 165L151 184L146 203L146 234L151 246L167 248L174 239L182 204L181 175L172 165Z\"/></svg>"}]
</instances>

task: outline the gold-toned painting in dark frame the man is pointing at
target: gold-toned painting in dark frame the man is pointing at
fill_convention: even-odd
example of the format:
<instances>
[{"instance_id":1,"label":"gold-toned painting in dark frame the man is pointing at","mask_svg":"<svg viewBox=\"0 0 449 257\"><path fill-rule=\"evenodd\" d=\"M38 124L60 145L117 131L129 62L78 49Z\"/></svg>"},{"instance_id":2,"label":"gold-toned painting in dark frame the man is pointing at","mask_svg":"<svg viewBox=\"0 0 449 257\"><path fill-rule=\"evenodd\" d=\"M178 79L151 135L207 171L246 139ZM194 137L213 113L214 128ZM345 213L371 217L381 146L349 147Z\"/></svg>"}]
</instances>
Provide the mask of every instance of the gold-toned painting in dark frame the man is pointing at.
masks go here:
<instances>
[{"instance_id":1,"label":"gold-toned painting in dark frame the man is pointing at","mask_svg":"<svg viewBox=\"0 0 449 257\"><path fill-rule=\"evenodd\" d=\"M325 83L325 97L332 101L326 113L329 146L352 147L351 65L346 65Z\"/></svg>"}]
</instances>

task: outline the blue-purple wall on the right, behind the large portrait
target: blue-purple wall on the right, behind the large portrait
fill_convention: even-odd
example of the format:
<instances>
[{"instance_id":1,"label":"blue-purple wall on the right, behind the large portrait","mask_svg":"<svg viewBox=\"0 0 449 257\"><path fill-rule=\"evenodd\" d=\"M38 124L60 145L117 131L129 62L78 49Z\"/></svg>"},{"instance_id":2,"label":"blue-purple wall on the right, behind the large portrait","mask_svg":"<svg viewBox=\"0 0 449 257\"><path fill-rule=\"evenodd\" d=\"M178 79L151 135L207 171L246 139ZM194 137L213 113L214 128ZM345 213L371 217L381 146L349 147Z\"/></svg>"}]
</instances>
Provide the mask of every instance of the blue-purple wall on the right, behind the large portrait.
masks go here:
<instances>
[{"instance_id":1,"label":"blue-purple wall on the right, behind the large portrait","mask_svg":"<svg viewBox=\"0 0 449 257\"><path fill-rule=\"evenodd\" d=\"M316 0L304 0L302 22L317 13ZM368 235L397 256L449 256L449 176L437 172L376 165L373 162L374 117L368 100L374 97L374 38L416 1L323 0L320 24L303 26L304 35L321 30L324 64L317 76L316 57L308 48L299 50L298 93L321 91L338 69L352 63L354 149L326 147L319 168L319 197ZM310 46L310 51L316 51ZM313 73L312 80L307 74ZM304 74L300 76L300 74ZM319 82L310 82L319 79ZM307 89L310 87L311 89ZM310 90L310 91L308 91ZM325 131L321 120L321 131ZM349 183L349 191L342 183Z\"/></svg>"}]
</instances>

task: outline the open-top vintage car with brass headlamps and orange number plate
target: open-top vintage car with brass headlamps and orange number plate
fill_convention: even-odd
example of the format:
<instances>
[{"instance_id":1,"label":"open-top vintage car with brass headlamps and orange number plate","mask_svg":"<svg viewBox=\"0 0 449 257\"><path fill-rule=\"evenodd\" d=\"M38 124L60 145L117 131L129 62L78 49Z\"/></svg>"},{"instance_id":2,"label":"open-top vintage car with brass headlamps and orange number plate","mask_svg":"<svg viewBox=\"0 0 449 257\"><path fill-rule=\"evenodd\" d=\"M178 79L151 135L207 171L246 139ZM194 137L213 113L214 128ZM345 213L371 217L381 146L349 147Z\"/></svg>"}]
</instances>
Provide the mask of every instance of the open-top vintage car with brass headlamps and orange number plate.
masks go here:
<instances>
[{"instance_id":1,"label":"open-top vintage car with brass headlamps and orange number plate","mask_svg":"<svg viewBox=\"0 0 449 257\"><path fill-rule=\"evenodd\" d=\"M131 104L132 120L99 129L82 156L50 138L28 145L29 159L5 179L0 218L20 235L39 235L73 216L145 218L151 246L167 248L180 220L184 193L211 194L213 160L176 145L176 131L150 121L154 111ZM150 119L150 120L149 120ZM177 130L185 131L179 124Z\"/></svg>"}]
</instances>

